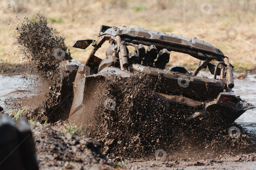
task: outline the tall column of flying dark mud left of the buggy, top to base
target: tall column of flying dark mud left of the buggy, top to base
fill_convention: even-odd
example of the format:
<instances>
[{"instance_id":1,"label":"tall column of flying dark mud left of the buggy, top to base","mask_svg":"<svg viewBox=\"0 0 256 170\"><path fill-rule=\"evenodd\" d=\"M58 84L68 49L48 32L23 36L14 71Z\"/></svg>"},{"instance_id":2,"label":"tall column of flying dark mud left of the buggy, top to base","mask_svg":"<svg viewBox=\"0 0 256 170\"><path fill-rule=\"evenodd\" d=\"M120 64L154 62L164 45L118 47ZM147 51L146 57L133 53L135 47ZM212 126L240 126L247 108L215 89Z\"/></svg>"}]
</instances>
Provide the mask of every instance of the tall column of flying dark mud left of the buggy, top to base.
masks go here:
<instances>
[{"instance_id":1,"label":"tall column of flying dark mud left of the buggy, top to base","mask_svg":"<svg viewBox=\"0 0 256 170\"><path fill-rule=\"evenodd\" d=\"M35 75L36 81L41 83L39 89L45 89L46 100L31 100L36 106L28 111L27 116L31 119L45 121L46 116L50 122L55 121L52 113L60 103L61 75L58 70L62 60L72 59L64 37L55 35L52 25L47 23L47 18L37 14L33 18L24 18L16 28L16 38L20 44L20 54L28 59L30 74ZM41 94L39 94L40 96ZM71 96L72 97L72 96ZM65 109L65 108L62 108Z\"/></svg>"}]
</instances>

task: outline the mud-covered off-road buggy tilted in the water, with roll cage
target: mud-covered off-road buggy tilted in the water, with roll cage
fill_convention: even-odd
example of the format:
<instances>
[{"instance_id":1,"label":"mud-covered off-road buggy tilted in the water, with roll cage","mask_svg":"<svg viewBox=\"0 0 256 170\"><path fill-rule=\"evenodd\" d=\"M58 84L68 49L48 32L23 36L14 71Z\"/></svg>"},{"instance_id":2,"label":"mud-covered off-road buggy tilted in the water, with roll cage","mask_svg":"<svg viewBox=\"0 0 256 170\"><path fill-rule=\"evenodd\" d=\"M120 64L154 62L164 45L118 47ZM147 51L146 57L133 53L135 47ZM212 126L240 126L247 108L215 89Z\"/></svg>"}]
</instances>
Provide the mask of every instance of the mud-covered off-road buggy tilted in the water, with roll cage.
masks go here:
<instances>
[{"instance_id":1,"label":"mud-covered off-road buggy tilted in the water, with roll cage","mask_svg":"<svg viewBox=\"0 0 256 170\"><path fill-rule=\"evenodd\" d=\"M94 54L105 41L110 45L106 50L106 58L100 59ZM176 113L186 115L181 120L184 122L193 122L201 115L217 114L226 124L231 124L246 110L255 108L232 91L234 66L229 63L228 57L218 48L197 38L189 39L140 27L102 25L97 40L79 40L73 47L85 49L90 44L93 49L87 61L79 67L76 64L73 67L78 69L69 119L77 124L94 121L97 114L94 114L96 110L93 108L95 100L91 98L101 90L101 84L95 87L95 82L113 74L122 77L138 74L145 77L154 89L155 96L167 101ZM134 51L129 51L127 46L132 46ZM199 60L199 65L193 73L179 65L165 70L171 51L189 54ZM218 63L214 65L211 61ZM62 67L66 67L65 64ZM197 76L206 67L214 78ZM116 107L115 101L106 102L109 110Z\"/></svg>"}]
</instances>

